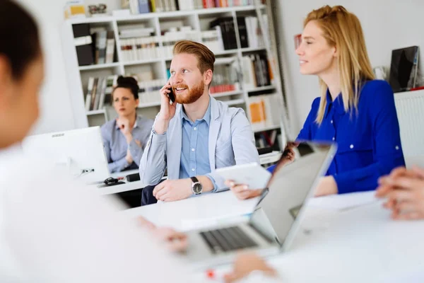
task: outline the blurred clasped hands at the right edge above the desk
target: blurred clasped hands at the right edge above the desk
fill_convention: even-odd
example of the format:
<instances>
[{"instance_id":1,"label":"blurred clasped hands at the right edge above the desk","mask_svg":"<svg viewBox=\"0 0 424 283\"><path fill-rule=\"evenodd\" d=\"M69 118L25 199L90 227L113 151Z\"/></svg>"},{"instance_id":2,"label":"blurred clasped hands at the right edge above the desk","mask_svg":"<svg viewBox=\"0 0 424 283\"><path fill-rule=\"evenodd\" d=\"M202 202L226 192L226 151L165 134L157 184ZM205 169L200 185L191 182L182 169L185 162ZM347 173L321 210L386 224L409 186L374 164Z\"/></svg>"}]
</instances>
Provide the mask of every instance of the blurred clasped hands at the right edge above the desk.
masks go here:
<instances>
[{"instance_id":1,"label":"blurred clasped hands at the right edge above the desk","mask_svg":"<svg viewBox=\"0 0 424 283\"><path fill-rule=\"evenodd\" d=\"M424 219L424 169L394 169L379 178L376 196L387 197L383 205L393 219Z\"/></svg>"}]
</instances>

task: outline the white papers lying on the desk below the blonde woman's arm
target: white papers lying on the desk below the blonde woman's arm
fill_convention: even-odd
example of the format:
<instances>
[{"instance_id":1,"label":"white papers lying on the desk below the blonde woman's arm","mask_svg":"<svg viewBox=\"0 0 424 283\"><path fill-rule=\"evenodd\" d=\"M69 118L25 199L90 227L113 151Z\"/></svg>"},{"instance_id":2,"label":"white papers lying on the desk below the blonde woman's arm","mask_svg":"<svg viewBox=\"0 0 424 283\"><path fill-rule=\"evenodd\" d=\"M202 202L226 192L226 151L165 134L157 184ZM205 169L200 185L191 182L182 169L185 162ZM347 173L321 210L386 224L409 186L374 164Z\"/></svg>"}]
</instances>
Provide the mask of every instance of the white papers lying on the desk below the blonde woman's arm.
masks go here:
<instances>
[{"instance_id":1,"label":"white papers lying on the desk below the blonde woman's arm","mask_svg":"<svg viewBox=\"0 0 424 283\"><path fill-rule=\"evenodd\" d=\"M379 201L381 200L375 197L375 190L372 190L370 192L352 192L350 194L343 195L312 197L307 202L307 206L324 209L344 210Z\"/></svg>"}]
</instances>

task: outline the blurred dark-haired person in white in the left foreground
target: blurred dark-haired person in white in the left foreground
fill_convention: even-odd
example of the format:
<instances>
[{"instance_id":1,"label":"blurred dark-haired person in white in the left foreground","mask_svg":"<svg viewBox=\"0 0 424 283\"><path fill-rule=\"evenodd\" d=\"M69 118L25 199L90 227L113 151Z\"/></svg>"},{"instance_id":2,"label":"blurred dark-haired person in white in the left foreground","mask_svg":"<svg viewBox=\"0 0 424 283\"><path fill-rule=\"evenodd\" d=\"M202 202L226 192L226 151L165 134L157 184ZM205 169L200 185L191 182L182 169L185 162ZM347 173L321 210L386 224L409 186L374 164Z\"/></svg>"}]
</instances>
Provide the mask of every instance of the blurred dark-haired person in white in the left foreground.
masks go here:
<instances>
[{"instance_id":1,"label":"blurred dark-haired person in white in the left foreground","mask_svg":"<svg viewBox=\"0 0 424 283\"><path fill-rule=\"evenodd\" d=\"M0 38L0 282L189 282L165 249L184 248L184 235L129 219L116 200L12 150L37 120L44 65L37 25L15 1L0 1ZM273 274L244 256L228 281L252 270Z\"/></svg>"}]
</instances>

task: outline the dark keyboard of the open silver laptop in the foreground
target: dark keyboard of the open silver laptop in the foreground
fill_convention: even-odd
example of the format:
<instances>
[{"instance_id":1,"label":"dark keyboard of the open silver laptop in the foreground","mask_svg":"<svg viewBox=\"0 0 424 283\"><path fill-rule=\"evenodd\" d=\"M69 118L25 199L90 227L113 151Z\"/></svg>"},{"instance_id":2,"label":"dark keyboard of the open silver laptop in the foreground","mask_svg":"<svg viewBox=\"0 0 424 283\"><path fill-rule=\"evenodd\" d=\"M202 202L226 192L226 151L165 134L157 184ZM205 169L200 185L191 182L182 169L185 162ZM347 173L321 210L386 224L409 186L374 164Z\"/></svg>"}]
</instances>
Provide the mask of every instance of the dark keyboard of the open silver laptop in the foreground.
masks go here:
<instances>
[{"instance_id":1,"label":"dark keyboard of the open silver laptop in the foreground","mask_svg":"<svg viewBox=\"0 0 424 283\"><path fill-rule=\"evenodd\" d=\"M257 243L237 226L205 231L201 232L200 235L204 238L213 253L257 246Z\"/></svg>"}]
</instances>

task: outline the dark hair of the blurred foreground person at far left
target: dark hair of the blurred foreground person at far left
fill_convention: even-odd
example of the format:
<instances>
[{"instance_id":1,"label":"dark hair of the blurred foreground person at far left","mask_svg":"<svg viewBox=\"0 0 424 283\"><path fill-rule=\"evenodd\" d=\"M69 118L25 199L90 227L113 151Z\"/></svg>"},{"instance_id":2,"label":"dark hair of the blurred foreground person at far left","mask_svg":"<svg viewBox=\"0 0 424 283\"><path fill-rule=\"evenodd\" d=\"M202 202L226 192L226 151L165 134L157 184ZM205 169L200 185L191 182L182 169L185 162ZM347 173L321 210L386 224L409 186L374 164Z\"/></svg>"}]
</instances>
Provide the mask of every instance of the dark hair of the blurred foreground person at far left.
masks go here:
<instances>
[{"instance_id":1,"label":"dark hair of the blurred foreground person at far left","mask_svg":"<svg viewBox=\"0 0 424 283\"><path fill-rule=\"evenodd\" d=\"M41 47L37 23L15 1L0 0L0 38L0 55L10 62L13 79L20 79Z\"/></svg>"}]
</instances>

